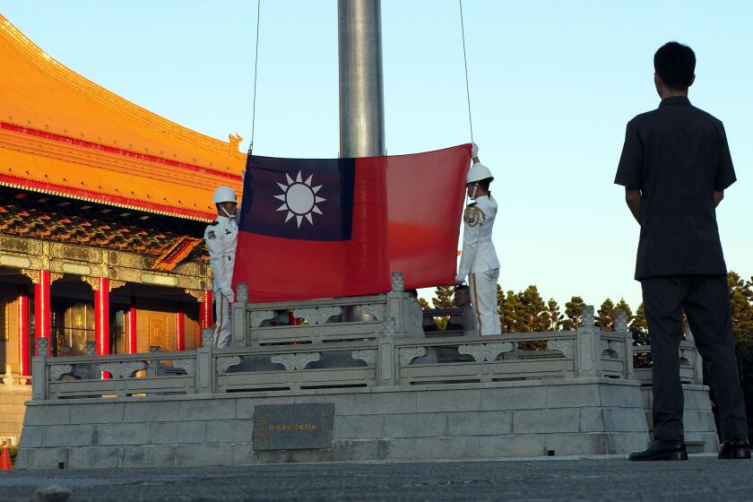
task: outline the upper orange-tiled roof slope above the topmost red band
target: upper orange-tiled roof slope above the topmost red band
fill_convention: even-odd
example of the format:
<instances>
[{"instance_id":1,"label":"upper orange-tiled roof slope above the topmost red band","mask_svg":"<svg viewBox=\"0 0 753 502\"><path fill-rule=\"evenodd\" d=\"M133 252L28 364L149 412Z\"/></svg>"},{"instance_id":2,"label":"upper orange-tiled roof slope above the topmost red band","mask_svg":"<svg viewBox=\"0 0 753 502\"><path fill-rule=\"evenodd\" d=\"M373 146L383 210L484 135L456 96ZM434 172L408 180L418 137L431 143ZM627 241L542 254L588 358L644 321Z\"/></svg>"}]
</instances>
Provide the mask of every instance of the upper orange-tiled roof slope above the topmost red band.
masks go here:
<instances>
[{"instance_id":1,"label":"upper orange-tiled roof slope above the topmost red band","mask_svg":"<svg viewBox=\"0 0 753 502\"><path fill-rule=\"evenodd\" d=\"M49 56L2 14L0 103L3 122L233 174L245 163L235 138L223 142L195 132L91 82Z\"/></svg>"}]
</instances>

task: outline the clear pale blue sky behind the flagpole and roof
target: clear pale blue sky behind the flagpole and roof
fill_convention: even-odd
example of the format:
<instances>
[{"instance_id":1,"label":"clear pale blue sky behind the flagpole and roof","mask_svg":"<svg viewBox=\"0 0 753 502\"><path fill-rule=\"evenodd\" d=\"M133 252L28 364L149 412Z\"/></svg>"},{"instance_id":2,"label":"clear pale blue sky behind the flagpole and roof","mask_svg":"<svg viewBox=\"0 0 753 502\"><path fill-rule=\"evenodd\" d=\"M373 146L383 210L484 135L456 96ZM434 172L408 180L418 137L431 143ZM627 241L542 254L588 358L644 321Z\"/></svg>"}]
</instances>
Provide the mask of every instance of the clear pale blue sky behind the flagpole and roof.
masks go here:
<instances>
[{"instance_id":1,"label":"clear pale blue sky behind the flagpole and roof","mask_svg":"<svg viewBox=\"0 0 753 502\"><path fill-rule=\"evenodd\" d=\"M753 2L463 0L472 117L495 173L506 290L640 302L638 227L612 185L625 133L655 108L653 52L696 51L694 104L723 120L739 181L718 212L727 264L753 275ZM227 141L251 137L256 2L0 0L51 56ZM456 0L383 0L389 153L470 140ZM335 0L262 0L255 153L336 157ZM2 103L0 103L2 107ZM442 197L442 194L437 194Z\"/></svg>"}]
</instances>

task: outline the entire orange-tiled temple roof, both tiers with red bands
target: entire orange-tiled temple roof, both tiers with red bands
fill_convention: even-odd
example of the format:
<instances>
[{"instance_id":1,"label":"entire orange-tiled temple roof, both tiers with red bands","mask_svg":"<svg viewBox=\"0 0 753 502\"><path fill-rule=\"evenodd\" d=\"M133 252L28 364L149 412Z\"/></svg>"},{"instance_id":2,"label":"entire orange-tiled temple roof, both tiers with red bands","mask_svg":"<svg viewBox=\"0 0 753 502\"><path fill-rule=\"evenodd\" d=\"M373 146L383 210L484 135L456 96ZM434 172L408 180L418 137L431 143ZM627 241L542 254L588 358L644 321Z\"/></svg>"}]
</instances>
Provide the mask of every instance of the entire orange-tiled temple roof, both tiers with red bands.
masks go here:
<instances>
[{"instance_id":1,"label":"entire orange-tiled temple roof, both tiers with red bands","mask_svg":"<svg viewBox=\"0 0 753 502\"><path fill-rule=\"evenodd\" d=\"M0 185L210 221L246 155L87 80L0 14Z\"/></svg>"}]
</instances>

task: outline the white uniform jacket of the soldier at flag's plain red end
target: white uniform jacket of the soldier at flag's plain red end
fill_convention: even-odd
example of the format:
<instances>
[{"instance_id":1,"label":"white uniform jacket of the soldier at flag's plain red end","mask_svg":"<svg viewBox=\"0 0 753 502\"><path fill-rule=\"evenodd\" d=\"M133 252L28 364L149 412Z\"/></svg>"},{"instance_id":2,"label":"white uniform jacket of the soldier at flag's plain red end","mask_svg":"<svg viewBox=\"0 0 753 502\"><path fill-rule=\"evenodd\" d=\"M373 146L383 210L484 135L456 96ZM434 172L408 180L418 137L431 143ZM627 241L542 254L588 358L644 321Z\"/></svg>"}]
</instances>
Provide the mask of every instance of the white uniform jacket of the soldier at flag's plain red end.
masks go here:
<instances>
[{"instance_id":1,"label":"white uniform jacket of the soldier at flag's plain red end","mask_svg":"<svg viewBox=\"0 0 753 502\"><path fill-rule=\"evenodd\" d=\"M458 275L487 272L499 268L497 250L491 242L491 231L497 217L497 201L491 195L477 197L463 214L463 254Z\"/></svg>"}]
</instances>

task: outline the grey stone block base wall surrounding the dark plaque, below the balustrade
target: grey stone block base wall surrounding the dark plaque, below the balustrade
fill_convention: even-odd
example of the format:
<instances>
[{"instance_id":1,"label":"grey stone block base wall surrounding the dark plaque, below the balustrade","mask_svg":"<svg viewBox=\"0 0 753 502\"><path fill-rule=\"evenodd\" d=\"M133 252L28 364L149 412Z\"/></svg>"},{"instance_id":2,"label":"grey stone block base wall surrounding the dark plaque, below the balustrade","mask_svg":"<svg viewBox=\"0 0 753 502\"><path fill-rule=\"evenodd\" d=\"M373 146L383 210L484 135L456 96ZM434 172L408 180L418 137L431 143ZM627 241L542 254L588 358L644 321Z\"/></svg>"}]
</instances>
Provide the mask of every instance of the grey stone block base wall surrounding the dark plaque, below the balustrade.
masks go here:
<instances>
[{"instance_id":1,"label":"grey stone block base wall surrounding the dark plaque, below the balustrade","mask_svg":"<svg viewBox=\"0 0 753 502\"><path fill-rule=\"evenodd\" d=\"M333 403L325 448L259 450L255 409ZM31 402L19 466L72 469L625 454L648 430L636 382L606 378Z\"/></svg>"}]
</instances>

